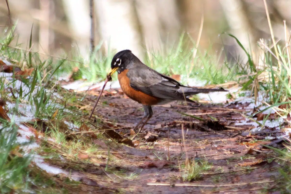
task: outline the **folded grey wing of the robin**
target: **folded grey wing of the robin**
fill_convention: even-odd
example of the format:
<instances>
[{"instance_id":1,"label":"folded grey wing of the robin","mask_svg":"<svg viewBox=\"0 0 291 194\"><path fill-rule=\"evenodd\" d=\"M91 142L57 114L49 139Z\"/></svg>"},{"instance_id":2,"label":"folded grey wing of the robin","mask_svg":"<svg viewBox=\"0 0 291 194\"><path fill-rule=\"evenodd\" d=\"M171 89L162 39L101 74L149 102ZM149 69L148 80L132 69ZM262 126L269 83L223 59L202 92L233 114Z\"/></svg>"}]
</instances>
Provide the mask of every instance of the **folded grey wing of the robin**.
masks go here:
<instances>
[{"instance_id":1,"label":"folded grey wing of the robin","mask_svg":"<svg viewBox=\"0 0 291 194\"><path fill-rule=\"evenodd\" d=\"M182 86L179 82L159 74L147 66L129 69L127 77L134 90L164 99L185 99L183 93L179 92L180 86Z\"/></svg>"}]
</instances>

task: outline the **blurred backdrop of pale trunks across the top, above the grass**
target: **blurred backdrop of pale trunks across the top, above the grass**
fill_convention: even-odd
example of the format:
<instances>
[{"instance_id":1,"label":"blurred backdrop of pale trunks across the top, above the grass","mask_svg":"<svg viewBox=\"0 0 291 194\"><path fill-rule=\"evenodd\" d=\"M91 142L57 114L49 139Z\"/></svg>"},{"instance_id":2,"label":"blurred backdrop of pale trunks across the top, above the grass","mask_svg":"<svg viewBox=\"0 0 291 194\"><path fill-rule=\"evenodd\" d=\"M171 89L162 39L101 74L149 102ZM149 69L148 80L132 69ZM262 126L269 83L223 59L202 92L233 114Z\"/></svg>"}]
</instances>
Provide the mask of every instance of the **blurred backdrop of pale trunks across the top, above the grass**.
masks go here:
<instances>
[{"instance_id":1,"label":"blurred backdrop of pale trunks across the top, above the grass","mask_svg":"<svg viewBox=\"0 0 291 194\"><path fill-rule=\"evenodd\" d=\"M32 51L88 59L89 0L8 0L8 3L12 21L6 1L0 1L1 36L8 25L17 22L14 45L28 49L33 25ZM260 38L270 38L263 0L95 0L93 5L95 46L100 45L106 56L114 49L131 49L140 58L149 51L163 53L178 45L185 32L183 44L187 49L191 49L187 47L189 42L195 45L199 40L196 44L199 50L219 52L223 47L223 55L228 59L246 62L241 47L223 33L233 34L253 54L258 52L256 44ZM290 26L291 1L268 0L267 5L275 38L284 39L283 20Z\"/></svg>"}]
</instances>

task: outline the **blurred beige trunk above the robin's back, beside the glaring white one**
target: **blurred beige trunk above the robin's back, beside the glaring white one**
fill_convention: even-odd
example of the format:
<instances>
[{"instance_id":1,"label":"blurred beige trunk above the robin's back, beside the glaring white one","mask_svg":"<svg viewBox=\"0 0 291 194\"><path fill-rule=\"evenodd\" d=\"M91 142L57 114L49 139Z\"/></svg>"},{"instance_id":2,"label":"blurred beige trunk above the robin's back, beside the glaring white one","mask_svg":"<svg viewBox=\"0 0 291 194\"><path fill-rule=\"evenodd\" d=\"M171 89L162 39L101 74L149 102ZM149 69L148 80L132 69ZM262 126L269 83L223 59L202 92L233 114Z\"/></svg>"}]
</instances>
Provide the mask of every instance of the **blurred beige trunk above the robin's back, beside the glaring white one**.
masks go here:
<instances>
[{"instance_id":1,"label":"blurred beige trunk above the robin's back, beside the glaring white one","mask_svg":"<svg viewBox=\"0 0 291 194\"><path fill-rule=\"evenodd\" d=\"M149 52L161 51L164 45L172 46L172 43L177 41L180 31L175 0L136 0L135 2L146 49Z\"/></svg>"}]
</instances>

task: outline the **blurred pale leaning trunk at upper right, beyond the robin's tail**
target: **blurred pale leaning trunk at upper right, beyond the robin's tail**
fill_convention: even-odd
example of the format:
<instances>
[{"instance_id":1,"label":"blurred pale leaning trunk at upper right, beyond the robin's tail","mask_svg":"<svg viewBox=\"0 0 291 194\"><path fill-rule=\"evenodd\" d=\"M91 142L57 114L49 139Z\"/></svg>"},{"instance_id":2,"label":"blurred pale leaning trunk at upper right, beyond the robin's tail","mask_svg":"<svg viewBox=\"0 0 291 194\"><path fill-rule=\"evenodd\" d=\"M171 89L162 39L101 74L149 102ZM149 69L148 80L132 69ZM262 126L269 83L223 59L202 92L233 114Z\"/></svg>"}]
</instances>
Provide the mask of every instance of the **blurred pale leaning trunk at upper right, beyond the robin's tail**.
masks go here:
<instances>
[{"instance_id":1,"label":"blurred pale leaning trunk at upper right, beyond the robin's tail","mask_svg":"<svg viewBox=\"0 0 291 194\"><path fill-rule=\"evenodd\" d=\"M224 10L225 17L230 26L230 33L232 33L241 44L244 46L246 51L250 54L257 53L256 38L254 30L249 21L249 17L244 8L244 4L241 0L220 0L221 6ZM235 42L235 40L232 40ZM239 59L240 62L245 64L248 60L244 51L239 48L237 43L234 57ZM251 53L251 51L253 53Z\"/></svg>"}]
</instances>

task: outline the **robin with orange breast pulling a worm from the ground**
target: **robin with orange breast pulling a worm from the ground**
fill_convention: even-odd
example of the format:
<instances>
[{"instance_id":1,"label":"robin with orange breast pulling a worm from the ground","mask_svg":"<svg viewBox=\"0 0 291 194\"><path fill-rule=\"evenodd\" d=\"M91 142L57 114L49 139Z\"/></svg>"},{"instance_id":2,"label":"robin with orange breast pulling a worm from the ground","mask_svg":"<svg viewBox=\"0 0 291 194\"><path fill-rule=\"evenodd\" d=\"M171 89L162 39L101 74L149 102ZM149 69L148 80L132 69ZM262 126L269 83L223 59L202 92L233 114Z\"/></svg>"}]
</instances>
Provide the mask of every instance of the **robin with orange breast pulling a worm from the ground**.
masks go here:
<instances>
[{"instance_id":1,"label":"robin with orange breast pulling a worm from the ground","mask_svg":"<svg viewBox=\"0 0 291 194\"><path fill-rule=\"evenodd\" d=\"M112 59L111 71L118 73L121 89L129 98L143 105L144 117L134 130L145 120L141 129L153 115L152 106L166 104L174 100L194 102L187 96L198 93L227 91L223 89L200 89L183 86L178 81L162 75L143 64L130 50L118 52Z\"/></svg>"}]
</instances>

